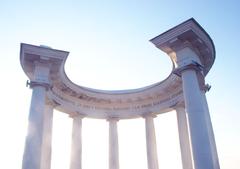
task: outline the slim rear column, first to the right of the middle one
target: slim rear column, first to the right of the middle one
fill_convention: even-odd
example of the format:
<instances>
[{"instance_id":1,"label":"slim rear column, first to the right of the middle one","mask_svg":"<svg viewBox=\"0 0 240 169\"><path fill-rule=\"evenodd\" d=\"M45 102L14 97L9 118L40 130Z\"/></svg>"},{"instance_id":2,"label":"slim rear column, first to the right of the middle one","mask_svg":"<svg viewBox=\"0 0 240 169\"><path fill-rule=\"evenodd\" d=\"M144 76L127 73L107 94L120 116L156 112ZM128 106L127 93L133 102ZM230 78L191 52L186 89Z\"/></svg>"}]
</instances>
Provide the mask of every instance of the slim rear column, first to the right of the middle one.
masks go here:
<instances>
[{"instance_id":1,"label":"slim rear column, first to the right of the middle one","mask_svg":"<svg viewBox=\"0 0 240 169\"><path fill-rule=\"evenodd\" d=\"M152 114L145 118L148 169L158 169L157 144Z\"/></svg>"}]
</instances>

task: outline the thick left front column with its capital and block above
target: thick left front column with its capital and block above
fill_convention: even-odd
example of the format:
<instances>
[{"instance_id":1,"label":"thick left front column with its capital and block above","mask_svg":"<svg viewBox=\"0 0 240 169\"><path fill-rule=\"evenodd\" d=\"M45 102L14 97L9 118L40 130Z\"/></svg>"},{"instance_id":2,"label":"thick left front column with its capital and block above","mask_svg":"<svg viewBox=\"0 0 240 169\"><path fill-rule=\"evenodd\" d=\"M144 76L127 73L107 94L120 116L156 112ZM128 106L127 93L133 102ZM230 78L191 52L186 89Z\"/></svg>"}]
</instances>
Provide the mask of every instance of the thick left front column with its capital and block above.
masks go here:
<instances>
[{"instance_id":1,"label":"thick left front column with its capital and block above","mask_svg":"<svg viewBox=\"0 0 240 169\"><path fill-rule=\"evenodd\" d=\"M30 82L32 100L22 169L40 169L41 166L45 94L49 87L48 75L49 66L36 62L33 81Z\"/></svg>"}]
</instances>

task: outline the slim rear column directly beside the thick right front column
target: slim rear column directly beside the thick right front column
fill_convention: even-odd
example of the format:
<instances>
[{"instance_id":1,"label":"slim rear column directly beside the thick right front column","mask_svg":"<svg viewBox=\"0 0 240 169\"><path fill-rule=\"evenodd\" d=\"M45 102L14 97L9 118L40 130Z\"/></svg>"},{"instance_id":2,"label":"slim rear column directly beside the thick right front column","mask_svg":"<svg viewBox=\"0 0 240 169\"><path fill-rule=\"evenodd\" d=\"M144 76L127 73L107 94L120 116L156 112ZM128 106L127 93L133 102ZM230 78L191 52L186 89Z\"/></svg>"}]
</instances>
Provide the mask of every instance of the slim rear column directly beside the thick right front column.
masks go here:
<instances>
[{"instance_id":1,"label":"slim rear column directly beside the thick right front column","mask_svg":"<svg viewBox=\"0 0 240 169\"><path fill-rule=\"evenodd\" d=\"M179 134L179 142L180 142L181 157L182 157L182 167L183 169L193 169L187 113L185 112L185 109L182 107L177 108L176 113L177 113L178 134Z\"/></svg>"}]
</instances>

